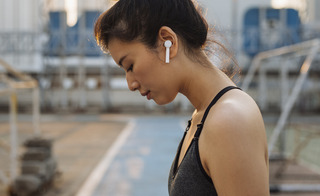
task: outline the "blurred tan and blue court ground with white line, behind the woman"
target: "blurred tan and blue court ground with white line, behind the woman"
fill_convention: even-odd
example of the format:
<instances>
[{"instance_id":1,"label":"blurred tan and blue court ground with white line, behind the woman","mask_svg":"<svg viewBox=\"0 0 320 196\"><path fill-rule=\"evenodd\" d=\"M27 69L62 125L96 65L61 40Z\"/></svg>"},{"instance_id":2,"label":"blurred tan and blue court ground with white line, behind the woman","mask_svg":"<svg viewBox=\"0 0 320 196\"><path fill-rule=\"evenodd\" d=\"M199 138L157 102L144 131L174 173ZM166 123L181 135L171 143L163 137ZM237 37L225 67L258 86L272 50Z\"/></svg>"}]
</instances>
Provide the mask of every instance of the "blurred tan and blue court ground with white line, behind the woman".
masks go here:
<instances>
[{"instance_id":1,"label":"blurred tan and blue court ground with white line, behind the woman","mask_svg":"<svg viewBox=\"0 0 320 196\"><path fill-rule=\"evenodd\" d=\"M18 124L20 142L32 133L28 120L30 117ZM61 173L46 196L168 195L168 170L187 120L179 115L43 115L41 130L45 137L55 140L54 154ZM3 141L9 139L8 130L5 117L0 116ZM271 184L320 186L319 174L297 164L291 164L280 178L275 178L279 164L270 163ZM1 161L0 167L7 169L9 165ZM0 195L5 195L5 187L0 188Z\"/></svg>"}]
</instances>

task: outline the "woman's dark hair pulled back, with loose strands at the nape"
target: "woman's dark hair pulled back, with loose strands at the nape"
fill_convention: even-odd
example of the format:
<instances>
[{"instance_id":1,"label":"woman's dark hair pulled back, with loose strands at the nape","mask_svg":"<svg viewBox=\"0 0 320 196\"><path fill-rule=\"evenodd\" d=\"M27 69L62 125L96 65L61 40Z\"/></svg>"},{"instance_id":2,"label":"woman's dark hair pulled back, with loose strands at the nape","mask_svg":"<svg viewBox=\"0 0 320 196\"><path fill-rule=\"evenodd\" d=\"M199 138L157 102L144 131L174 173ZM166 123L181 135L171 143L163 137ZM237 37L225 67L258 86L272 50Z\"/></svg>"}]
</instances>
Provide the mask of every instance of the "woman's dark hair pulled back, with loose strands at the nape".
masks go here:
<instances>
[{"instance_id":1,"label":"woman's dark hair pulled back, with loose strands at the nape","mask_svg":"<svg viewBox=\"0 0 320 196\"><path fill-rule=\"evenodd\" d=\"M138 40L152 49L156 48L162 26L170 27L178 35L188 56L197 57L199 49L204 49L207 54L210 51L206 49L209 27L193 0L119 0L97 19L94 34L104 51L108 51L112 38ZM236 63L220 42L213 39L211 43L222 48Z\"/></svg>"}]
</instances>

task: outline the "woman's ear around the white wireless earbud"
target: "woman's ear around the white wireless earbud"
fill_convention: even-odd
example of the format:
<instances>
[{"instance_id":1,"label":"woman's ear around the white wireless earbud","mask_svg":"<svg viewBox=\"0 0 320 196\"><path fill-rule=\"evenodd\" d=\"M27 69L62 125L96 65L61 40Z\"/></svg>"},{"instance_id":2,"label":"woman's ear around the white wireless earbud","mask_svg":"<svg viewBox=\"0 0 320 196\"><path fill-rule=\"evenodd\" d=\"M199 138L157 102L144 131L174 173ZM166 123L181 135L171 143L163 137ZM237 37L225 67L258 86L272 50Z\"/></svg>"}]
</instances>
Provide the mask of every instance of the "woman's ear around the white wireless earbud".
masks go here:
<instances>
[{"instance_id":1,"label":"woman's ear around the white wireless earbud","mask_svg":"<svg viewBox=\"0 0 320 196\"><path fill-rule=\"evenodd\" d=\"M170 47L170 59L174 58L177 56L178 53L178 48L179 48L179 42L178 42L178 37L177 34L167 26L162 26L159 30L159 35L158 35L158 42L159 42L159 48L161 53L163 52L163 59L165 59L165 51L166 48L164 47L164 42L165 41L171 41L172 46Z\"/></svg>"}]
</instances>

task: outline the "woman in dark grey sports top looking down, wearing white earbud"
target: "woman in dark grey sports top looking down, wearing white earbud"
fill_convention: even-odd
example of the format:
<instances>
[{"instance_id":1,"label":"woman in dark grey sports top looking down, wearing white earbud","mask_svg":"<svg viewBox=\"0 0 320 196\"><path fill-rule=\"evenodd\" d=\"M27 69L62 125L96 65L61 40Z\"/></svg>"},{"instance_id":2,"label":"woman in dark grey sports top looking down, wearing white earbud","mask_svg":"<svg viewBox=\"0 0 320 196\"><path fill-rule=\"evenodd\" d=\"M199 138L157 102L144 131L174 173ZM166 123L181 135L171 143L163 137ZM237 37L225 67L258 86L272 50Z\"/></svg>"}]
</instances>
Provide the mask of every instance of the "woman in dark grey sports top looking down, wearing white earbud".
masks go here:
<instances>
[{"instance_id":1,"label":"woman in dark grey sports top looking down, wearing white earbud","mask_svg":"<svg viewBox=\"0 0 320 196\"><path fill-rule=\"evenodd\" d=\"M169 195L269 195L260 111L209 60L208 25L193 1L119 0L98 18L95 36L125 70L130 90L159 105L182 93L195 107L169 174Z\"/></svg>"}]
</instances>

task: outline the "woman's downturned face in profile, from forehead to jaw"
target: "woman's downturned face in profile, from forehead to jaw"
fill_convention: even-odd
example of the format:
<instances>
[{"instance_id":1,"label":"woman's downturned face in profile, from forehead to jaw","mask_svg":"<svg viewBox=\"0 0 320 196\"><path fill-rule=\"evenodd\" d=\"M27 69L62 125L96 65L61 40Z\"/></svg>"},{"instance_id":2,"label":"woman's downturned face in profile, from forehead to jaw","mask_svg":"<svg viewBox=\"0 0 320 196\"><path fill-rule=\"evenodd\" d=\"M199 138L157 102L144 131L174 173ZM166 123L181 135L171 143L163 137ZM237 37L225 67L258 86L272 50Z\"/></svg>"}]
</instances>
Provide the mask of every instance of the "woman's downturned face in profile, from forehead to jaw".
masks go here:
<instances>
[{"instance_id":1,"label":"woman's downturned face in profile, from forehead to jaw","mask_svg":"<svg viewBox=\"0 0 320 196\"><path fill-rule=\"evenodd\" d=\"M125 70L130 90L138 90L159 105L170 103L177 96L177 77L173 77L173 66L164 63L164 47L155 49L156 52L141 42L114 38L109 41L108 49L114 61Z\"/></svg>"}]
</instances>

